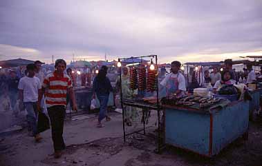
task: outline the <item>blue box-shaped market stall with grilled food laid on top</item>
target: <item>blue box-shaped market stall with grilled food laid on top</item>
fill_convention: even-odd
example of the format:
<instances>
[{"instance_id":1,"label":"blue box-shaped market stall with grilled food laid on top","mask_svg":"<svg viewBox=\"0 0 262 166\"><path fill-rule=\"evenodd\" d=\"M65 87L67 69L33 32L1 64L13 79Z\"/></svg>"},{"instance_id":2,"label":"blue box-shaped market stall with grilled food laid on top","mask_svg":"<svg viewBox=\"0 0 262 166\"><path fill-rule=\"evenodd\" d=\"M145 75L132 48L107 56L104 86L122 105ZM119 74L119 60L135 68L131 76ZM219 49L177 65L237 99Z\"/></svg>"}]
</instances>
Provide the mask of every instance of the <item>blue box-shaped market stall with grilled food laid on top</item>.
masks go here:
<instances>
[{"instance_id":1,"label":"blue box-shaped market stall with grilled food laid on top","mask_svg":"<svg viewBox=\"0 0 262 166\"><path fill-rule=\"evenodd\" d=\"M248 101L189 96L180 101L163 99L162 107L167 145L211 157L236 138L247 136Z\"/></svg>"}]
</instances>

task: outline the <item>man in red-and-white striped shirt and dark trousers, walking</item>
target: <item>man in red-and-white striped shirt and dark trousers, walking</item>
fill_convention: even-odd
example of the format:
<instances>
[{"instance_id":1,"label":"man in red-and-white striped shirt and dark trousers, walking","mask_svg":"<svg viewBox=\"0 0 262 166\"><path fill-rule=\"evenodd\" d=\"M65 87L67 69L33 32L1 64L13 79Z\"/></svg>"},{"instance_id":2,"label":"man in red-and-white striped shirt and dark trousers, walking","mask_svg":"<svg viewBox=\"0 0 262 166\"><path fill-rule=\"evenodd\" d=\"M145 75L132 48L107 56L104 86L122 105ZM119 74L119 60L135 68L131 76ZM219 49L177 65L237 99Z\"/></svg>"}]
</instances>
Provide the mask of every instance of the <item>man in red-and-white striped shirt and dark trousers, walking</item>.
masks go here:
<instances>
[{"instance_id":1,"label":"man in red-and-white striped shirt and dark trousers, walking","mask_svg":"<svg viewBox=\"0 0 262 166\"><path fill-rule=\"evenodd\" d=\"M48 115L50 117L52 127L52 139L55 149L55 158L62 156L61 151L66 148L63 138L64 118L66 116L66 94L69 95L73 101L73 110L77 111L75 104L75 95L73 93L73 86L70 77L64 74L66 69L66 61L57 59L55 61L55 72L46 76L41 90L39 90L39 97L37 107L40 109L41 98L46 92L46 106Z\"/></svg>"}]
</instances>

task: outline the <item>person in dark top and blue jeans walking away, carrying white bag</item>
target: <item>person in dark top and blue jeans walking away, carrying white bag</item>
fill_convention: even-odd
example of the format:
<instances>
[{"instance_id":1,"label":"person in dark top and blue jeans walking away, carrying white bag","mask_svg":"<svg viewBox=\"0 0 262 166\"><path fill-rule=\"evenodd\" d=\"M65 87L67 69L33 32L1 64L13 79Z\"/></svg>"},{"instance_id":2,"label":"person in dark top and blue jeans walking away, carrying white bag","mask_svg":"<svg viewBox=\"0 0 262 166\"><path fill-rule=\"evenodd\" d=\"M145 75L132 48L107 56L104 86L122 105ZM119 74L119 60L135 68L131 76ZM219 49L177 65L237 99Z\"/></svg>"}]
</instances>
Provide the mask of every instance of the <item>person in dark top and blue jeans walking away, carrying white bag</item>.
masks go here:
<instances>
[{"instance_id":1,"label":"person in dark top and blue jeans walking away, carrying white bag","mask_svg":"<svg viewBox=\"0 0 262 166\"><path fill-rule=\"evenodd\" d=\"M111 118L107 115L107 103L109 102L109 93L113 91L113 87L109 78L106 76L107 70L108 68L103 65L93 81L93 98L95 98L96 94L100 101L97 127L104 127L101 123L104 118L106 118L106 121L111 121Z\"/></svg>"}]
</instances>

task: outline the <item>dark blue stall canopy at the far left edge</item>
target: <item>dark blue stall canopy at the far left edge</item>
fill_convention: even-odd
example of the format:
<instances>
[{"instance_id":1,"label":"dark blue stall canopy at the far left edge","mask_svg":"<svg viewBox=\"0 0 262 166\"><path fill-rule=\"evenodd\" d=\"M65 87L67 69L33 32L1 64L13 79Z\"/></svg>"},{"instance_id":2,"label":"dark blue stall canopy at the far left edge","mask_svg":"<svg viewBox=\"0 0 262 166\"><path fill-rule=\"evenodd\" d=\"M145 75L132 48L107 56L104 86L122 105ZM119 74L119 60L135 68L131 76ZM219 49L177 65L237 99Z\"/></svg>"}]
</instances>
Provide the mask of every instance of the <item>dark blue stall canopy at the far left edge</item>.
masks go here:
<instances>
[{"instance_id":1,"label":"dark blue stall canopy at the far left edge","mask_svg":"<svg viewBox=\"0 0 262 166\"><path fill-rule=\"evenodd\" d=\"M34 63L35 61L31 61L28 59L10 59L6 61L0 61L0 66L2 68L13 68L17 66L28 65L30 63Z\"/></svg>"}]
</instances>

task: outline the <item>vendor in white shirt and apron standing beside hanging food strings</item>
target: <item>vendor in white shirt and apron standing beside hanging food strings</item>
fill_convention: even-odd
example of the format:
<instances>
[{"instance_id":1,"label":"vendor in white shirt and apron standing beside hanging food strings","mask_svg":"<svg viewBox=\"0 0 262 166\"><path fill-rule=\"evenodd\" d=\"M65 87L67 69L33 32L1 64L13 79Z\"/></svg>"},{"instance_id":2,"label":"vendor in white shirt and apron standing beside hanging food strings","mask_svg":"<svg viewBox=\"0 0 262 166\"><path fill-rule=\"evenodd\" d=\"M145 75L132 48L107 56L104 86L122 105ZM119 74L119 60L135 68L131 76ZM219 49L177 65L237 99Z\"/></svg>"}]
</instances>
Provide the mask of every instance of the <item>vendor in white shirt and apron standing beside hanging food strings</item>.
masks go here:
<instances>
[{"instance_id":1,"label":"vendor in white shirt and apron standing beside hanging food strings","mask_svg":"<svg viewBox=\"0 0 262 166\"><path fill-rule=\"evenodd\" d=\"M160 83L166 89L165 96L185 94L185 77L179 72L180 67L181 63L179 61L173 61L171 63L171 73Z\"/></svg>"}]
</instances>

